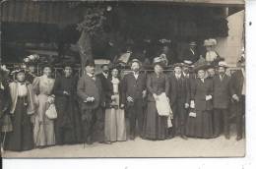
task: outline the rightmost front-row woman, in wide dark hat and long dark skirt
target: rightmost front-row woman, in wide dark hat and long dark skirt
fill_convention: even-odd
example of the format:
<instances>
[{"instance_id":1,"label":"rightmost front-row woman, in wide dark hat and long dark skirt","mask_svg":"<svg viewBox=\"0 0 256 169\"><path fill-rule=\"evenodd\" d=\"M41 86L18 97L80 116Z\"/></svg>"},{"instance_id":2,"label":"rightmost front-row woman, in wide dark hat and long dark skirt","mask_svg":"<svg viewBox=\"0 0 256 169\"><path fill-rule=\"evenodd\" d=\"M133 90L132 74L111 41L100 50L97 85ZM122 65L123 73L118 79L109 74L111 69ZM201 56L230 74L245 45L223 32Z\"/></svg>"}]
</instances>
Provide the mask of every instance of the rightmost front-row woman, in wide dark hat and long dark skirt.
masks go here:
<instances>
[{"instance_id":1,"label":"rightmost front-row woman, in wide dark hat and long dark skirt","mask_svg":"<svg viewBox=\"0 0 256 169\"><path fill-rule=\"evenodd\" d=\"M193 138L213 138L213 81L206 78L208 65L195 68L198 77L191 84L191 111L186 135Z\"/></svg>"}]
</instances>

